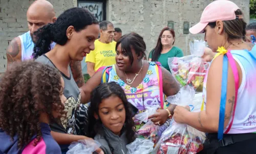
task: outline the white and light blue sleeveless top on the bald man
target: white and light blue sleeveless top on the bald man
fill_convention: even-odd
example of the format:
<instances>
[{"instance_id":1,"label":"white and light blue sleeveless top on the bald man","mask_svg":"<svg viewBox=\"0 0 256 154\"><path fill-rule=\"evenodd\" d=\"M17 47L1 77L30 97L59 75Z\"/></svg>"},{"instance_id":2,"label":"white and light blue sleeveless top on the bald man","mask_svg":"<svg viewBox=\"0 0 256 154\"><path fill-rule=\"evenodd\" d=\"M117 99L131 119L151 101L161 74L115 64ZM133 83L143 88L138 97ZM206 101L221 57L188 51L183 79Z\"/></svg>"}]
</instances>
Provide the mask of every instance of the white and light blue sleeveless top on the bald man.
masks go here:
<instances>
[{"instance_id":1,"label":"white and light blue sleeveless top on the bald man","mask_svg":"<svg viewBox=\"0 0 256 154\"><path fill-rule=\"evenodd\" d=\"M18 36L22 44L22 61L33 59L34 42L30 36L30 31ZM56 45L55 42L51 44L51 49Z\"/></svg>"}]
</instances>

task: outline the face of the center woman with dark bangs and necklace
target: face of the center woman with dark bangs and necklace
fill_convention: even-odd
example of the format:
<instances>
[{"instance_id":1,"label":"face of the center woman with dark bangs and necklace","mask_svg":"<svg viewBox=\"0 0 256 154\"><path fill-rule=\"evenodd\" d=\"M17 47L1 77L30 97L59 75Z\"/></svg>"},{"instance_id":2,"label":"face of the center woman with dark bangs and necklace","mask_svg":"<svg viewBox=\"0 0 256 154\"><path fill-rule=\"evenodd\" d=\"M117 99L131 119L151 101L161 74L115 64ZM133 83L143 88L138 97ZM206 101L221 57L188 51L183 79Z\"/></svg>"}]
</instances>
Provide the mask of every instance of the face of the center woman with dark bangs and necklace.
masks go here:
<instances>
[{"instance_id":1,"label":"face of the center woman with dark bangs and necklace","mask_svg":"<svg viewBox=\"0 0 256 154\"><path fill-rule=\"evenodd\" d=\"M134 49L131 48L133 55L133 65L131 65L129 55L126 51L122 51L121 49L121 43L117 46L116 49L116 64L120 71L130 71L132 70L132 66L135 65L135 63L138 63L138 55L135 53Z\"/></svg>"}]
</instances>

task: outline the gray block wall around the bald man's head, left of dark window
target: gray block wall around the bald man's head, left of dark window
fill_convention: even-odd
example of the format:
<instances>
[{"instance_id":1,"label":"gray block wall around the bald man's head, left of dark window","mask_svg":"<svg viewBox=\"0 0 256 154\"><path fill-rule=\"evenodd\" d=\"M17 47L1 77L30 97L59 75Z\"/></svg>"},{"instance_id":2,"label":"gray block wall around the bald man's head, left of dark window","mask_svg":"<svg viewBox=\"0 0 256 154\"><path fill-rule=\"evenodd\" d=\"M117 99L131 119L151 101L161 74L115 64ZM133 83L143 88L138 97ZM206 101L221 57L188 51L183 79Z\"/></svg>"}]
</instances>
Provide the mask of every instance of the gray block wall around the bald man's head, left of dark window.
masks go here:
<instances>
[{"instance_id":1,"label":"gray block wall around the bald man's head, left of dark window","mask_svg":"<svg viewBox=\"0 0 256 154\"><path fill-rule=\"evenodd\" d=\"M0 0L0 72L7 67L6 49L9 42L16 36L27 32L26 13L32 0ZM56 15L64 10L77 6L75 0L50 0Z\"/></svg>"}]
</instances>

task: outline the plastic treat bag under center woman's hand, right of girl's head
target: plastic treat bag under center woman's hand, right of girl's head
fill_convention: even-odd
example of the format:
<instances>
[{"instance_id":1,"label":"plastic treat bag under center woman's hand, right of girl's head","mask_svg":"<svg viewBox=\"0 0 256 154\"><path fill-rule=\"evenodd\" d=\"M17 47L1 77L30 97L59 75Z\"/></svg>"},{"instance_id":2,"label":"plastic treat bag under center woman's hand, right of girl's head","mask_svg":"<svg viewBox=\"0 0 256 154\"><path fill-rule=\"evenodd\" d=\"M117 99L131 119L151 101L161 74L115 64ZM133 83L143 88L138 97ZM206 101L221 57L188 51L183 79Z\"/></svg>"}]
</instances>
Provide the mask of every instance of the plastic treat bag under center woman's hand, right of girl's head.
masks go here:
<instances>
[{"instance_id":1,"label":"plastic treat bag under center woman's hand, right of girl's head","mask_svg":"<svg viewBox=\"0 0 256 154\"><path fill-rule=\"evenodd\" d=\"M161 137L162 132L169 126L168 121L161 126L155 125L151 120L148 121L148 117L156 113L156 110L160 108L159 105L152 107L146 107L146 111L135 115L137 120L140 120L140 124L145 124L136 132L138 138L148 139L157 143Z\"/></svg>"}]
</instances>

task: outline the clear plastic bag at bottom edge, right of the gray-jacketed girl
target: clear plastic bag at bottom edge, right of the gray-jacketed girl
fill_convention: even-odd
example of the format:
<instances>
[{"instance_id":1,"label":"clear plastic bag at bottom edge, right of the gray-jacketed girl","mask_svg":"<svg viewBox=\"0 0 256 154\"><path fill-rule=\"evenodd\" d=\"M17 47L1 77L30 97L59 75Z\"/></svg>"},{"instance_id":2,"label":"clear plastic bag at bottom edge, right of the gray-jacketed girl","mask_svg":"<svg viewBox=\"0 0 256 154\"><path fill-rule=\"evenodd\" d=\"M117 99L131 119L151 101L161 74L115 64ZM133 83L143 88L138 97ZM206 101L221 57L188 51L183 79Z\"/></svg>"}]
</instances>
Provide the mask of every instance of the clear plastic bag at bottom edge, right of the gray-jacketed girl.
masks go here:
<instances>
[{"instance_id":1,"label":"clear plastic bag at bottom edge, right of the gray-jacketed girl","mask_svg":"<svg viewBox=\"0 0 256 154\"><path fill-rule=\"evenodd\" d=\"M127 154L143 154L153 151L154 143L151 140L137 138L134 142L126 145Z\"/></svg>"}]
</instances>

